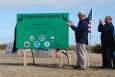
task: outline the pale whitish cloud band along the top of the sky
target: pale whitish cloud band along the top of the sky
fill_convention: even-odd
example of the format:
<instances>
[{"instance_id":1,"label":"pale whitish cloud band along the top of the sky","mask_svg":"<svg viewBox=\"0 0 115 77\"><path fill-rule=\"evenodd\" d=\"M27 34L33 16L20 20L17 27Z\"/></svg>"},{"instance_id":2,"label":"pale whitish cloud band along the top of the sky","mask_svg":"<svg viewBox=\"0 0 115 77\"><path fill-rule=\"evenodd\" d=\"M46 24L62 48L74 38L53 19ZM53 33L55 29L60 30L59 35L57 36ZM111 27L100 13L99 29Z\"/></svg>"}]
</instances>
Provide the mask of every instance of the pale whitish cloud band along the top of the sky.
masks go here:
<instances>
[{"instance_id":1,"label":"pale whitish cloud band along the top of the sky","mask_svg":"<svg viewBox=\"0 0 115 77\"><path fill-rule=\"evenodd\" d=\"M89 4L115 3L113 0L0 0L2 8L53 6L59 8L77 7Z\"/></svg>"}]
</instances>

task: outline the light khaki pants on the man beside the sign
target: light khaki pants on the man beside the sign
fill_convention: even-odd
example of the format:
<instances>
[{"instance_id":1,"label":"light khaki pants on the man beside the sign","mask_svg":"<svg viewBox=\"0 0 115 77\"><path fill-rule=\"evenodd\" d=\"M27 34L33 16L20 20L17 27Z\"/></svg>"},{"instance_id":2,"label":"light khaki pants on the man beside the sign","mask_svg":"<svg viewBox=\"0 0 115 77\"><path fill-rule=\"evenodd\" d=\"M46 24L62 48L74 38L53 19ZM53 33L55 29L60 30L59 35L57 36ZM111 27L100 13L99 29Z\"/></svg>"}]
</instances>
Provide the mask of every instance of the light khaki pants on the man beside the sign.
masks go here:
<instances>
[{"instance_id":1,"label":"light khaki pants on the man beside the sign","mask_svg":"<svg viewBox=\"0 0 115 77\"><path fill-rule=\"evenodd\" d=\"M77 54L77 65L80 68L87 68L88 60L87 60L86 44L77 43L76 54Z\"/></svg>"}]
</instances>

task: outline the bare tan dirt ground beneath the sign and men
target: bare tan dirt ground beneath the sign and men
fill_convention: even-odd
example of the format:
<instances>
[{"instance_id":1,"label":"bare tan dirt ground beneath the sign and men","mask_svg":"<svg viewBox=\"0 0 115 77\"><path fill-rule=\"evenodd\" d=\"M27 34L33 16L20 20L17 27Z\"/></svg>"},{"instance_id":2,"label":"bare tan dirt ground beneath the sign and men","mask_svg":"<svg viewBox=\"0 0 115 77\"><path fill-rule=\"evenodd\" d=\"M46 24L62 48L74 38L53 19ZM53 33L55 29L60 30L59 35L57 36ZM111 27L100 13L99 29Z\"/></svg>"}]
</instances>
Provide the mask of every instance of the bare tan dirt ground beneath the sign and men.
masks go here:
<instances>
[{"instance_id":1,"label":"bare tan dirt ground beneath the sign and men","mask_svg":"<svg viewBox=\"0 0 115 77\"><path fill-rule=\"evenodd\" d=\"M72 64L76 63L75 54L70 53ZM63 55L63 67L58 67L59 58L47 54L35 55L36 64L31 56L27 57L28 66L23 66L23 58L18 55L0 53L0 77L115 77L115 70L100 69L101 55L90 54L90 68L74 70Z\"/></svg>"}]
</instances>

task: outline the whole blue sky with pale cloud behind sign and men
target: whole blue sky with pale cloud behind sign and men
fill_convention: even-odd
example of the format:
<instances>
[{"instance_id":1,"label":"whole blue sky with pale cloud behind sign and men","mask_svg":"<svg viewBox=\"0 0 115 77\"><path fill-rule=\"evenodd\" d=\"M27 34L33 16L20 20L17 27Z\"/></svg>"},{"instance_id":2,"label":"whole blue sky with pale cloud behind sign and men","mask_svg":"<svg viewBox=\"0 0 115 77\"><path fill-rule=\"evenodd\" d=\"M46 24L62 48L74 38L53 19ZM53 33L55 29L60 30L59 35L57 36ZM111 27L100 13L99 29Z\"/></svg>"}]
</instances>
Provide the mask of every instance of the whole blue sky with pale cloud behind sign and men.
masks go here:
<instances>
[{"instance_id":1,"label":"whole blue sky with pale cloud behind sign and men","mask_svg":"<svg viewBox=\"0 0 115 77\"><path fill-rule=\"evenodd\" d=\"M0 0L0 43L13 41L17 13L69 13L70 20L77 26L77 13L88 15L93 8L91 44L100 43L98 20L107 15L113 17L115 25L115 0ZM69 30L69 43L75 44L74 32Z\"/></svg>"}]
</instances>

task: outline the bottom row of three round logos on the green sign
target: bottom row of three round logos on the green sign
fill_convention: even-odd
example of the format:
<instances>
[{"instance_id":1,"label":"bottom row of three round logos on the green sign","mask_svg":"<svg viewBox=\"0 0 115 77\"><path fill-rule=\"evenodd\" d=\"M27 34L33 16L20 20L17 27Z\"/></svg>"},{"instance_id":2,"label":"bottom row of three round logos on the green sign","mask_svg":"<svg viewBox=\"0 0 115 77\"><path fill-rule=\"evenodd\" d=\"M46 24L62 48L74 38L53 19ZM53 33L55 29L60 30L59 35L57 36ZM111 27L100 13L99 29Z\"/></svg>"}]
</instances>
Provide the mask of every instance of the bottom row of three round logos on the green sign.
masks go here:
<instances>
[{"instance_id":1,"label":"bottom row of three round logos on the green sign","mask_svg":"<svg viewBox=\"0 0 115 77\"><path fill-rule=\"evenodd\" d=\"M30 47L30 42L29 42L29 41L25 41L25 42L24 42L24 46L25 46L26 48ZM50 47L50 42L49 42L49 41L45 41L45 42L44 42L44 46L45 46L45 47ZM35 42L34 42L34 47L35 47L35 48L39 48L39 47L40 47L40 42L39 42L39 41L35 41Z\"/></svg>"}]
</instances>

